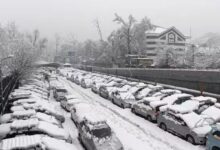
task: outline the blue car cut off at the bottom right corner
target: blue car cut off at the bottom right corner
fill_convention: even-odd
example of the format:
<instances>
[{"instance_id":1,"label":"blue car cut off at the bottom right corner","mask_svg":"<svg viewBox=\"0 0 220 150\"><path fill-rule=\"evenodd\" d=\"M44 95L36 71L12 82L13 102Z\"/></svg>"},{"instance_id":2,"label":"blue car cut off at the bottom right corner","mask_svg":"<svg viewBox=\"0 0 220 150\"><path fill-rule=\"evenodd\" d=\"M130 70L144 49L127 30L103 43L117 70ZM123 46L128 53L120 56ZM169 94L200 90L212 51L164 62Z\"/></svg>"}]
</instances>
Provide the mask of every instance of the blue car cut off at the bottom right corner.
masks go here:
<instances>
[{"instance_id":1,"label":"blue car cut off at the bottom right corner","mask_svg":"<svg viewBox=\"0 0 220 150\"><path fill-rule=\"evenodd\" d=\"M207 136L206 150L220 150L220 124L212 127Z\"/></svg>"}]
</instances>

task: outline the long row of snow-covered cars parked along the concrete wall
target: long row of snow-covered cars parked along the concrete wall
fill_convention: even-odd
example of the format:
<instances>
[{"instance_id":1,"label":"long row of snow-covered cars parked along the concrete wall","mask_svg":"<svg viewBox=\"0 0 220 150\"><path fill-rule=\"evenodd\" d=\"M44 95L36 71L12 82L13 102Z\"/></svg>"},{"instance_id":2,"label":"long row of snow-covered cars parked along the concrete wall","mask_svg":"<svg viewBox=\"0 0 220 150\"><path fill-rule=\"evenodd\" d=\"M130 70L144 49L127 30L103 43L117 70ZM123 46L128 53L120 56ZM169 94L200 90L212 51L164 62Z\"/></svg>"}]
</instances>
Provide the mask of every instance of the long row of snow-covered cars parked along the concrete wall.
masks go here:
<instances>
[{"instance_id":1,"label":"long row of snow-covered cars parked along the concrete wall","mask_svg":"<svg viewBox=\"0 0 220 150\"><path fill-rule=\"evenodd\" d=\"M157 123L163 130L192 144L206 144L208 137L207 149L220 149L219 143L213 143L213 138L220 142L220 139L216 139L219 134L215 132L220 129L220 104L216 98L195 97L160 85L133 82L78 69L70 72L71 77L68 79L72 82L91 88L94 93L122 108L130 108L133 113Z\"/></svg>"}]
</instances>

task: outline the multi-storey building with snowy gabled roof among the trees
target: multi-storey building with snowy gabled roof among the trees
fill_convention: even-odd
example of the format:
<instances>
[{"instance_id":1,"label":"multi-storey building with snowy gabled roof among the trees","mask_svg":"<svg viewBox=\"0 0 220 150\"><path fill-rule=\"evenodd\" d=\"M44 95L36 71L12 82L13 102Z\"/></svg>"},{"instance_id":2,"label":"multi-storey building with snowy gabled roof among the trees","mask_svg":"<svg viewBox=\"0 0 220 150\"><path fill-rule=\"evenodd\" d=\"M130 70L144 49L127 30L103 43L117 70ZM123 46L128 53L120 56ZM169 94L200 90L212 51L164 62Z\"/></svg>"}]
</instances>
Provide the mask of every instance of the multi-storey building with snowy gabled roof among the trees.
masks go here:
<instances>
[{"instance_id":1,"label":"multi-storey building with snowy gabled roof among the trees","mask_svg":"<svg viewBox=\"0 0 220 150\"><path fill-rule=\"evenodd\" d=\"M178 51L184 51L187 38L175 27L163 28L154 26L152 30L146 32L145 54L148 58L154 59L157 55L157 48L165 46L171 46Z\"/></svg>"}]
</instances>

